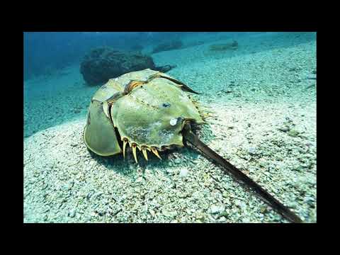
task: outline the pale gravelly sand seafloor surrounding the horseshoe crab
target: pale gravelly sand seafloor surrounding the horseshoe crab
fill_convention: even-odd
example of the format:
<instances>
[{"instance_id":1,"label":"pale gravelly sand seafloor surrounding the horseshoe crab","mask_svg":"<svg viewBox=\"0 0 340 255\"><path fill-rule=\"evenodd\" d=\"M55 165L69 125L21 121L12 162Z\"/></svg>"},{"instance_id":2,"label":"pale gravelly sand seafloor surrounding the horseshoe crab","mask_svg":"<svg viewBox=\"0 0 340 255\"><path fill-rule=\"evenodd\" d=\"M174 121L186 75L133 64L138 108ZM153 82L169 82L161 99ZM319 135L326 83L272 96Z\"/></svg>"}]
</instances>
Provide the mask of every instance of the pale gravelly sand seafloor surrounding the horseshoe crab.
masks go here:
<instances>
[{"instance_id":1,"label":"pale gravelly sand seafloor surrounding the horseshoe crab","mask_svg":"<svg viewBox=\"0 0 340 255\"><path fill-rule=\"evenodd\" d=\"M316 38L268 33L152 55L215 112L201 139L316 222ZM24 222L287 222L191 148L98 157L82 141L89 101L79 65L24 84Z\"/></svg>"}]
</instances>

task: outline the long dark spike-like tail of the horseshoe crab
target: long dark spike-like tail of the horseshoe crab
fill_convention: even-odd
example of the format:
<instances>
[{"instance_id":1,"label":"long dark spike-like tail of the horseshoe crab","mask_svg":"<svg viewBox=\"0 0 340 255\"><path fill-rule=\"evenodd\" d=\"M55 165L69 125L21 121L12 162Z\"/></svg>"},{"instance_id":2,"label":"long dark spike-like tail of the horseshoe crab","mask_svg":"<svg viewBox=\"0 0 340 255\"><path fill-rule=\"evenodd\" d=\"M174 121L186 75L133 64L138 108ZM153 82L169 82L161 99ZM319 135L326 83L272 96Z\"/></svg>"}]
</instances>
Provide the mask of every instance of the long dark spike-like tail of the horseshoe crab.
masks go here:
<instances>
[{"instance_id":1,"label":"long dark spike-like tail of the horseshoe crab","mask_svg":"<svg viewBox=\"0 0 340 255\"><path fill-rule=\"evenodd\" d=\"M217 164L220 164L222 166L222 169L232 174L234 178L237 180L242 181L247 187L251 188L257 195L259 195L262 200L271 206L276 212L278 212L280 215L285 217L290 222L295 223L302 223L302 220L300 217L295 215L294 212L289 210L285 205L280 203L276 198L271 196L271 194L268 193L264 188L259 186L258 183L250 179L246 174L242 173L239 169L237 169L235 166L227 162L227 160L220 157L219 154L214 152L212 149L210 149L207 145L205 145L203 142L201 142L198 137L191 131L191 125L190 123L186 123L183 127L183 137L188 141L191 142L192 145L194 145L197 149L200 150L200 152L203 153L205 157L208 159L212 159L212 161L217 162Z\"/></svg>"}]
</instances>

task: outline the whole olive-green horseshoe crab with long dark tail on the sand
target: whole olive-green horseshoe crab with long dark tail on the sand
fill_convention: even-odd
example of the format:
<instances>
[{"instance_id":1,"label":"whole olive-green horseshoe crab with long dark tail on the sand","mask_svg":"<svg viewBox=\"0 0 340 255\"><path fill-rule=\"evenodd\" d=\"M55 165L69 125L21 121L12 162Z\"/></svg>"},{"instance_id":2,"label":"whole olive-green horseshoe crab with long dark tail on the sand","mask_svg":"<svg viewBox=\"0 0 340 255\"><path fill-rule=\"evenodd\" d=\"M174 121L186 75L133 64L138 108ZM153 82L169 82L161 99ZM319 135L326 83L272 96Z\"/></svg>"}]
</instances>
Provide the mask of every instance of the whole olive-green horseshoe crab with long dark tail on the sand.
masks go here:
<instances>
[{"instance_id":1,"label":"whole olive-green horseshoe crab with long dark tail on the sand","mask_svg":"<svg viewBox=\"0 0 340 255\"><path fill-rule=\"evenodd\" d=\"M123 153L125 158L126 145L130 145L137 163L137 149L146 160L148 151L162 159L159 152L183 147L183 141L190 142L205 157L252 188L280 215L291 222L302 222L259 184L199 140L195 130L205 123L207 115L188 93L198 94L183 82L151 69L110 79L91 99L83 135L86 147L100 156Z\"/></svg>"}]
</instances>

